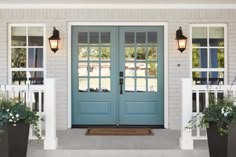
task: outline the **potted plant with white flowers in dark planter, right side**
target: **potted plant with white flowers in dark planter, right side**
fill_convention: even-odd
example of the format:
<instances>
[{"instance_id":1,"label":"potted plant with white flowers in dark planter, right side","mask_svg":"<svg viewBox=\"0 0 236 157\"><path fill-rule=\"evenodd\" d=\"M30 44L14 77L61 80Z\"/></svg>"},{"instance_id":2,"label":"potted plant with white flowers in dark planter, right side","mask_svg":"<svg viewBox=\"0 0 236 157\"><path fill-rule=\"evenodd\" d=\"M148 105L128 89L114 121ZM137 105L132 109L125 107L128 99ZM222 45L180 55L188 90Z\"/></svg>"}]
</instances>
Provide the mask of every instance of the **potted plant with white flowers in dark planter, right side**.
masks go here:
<instances>
[{"instance_id":1,"label":"potted plant with white flowers in dark planter, right side","mask_svg":"<svg viewBox=\"0 0 236 157\"><path fill-rule=\"evenodd\" d=\"M189 122L207 128L210 157L236 157L236 106L232 94L216 99L209 93L209 105ZM188 126L188 127L189 127Z\"/></svg>"}]
</instances>

